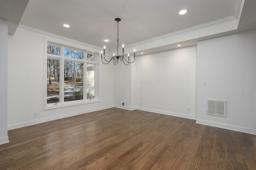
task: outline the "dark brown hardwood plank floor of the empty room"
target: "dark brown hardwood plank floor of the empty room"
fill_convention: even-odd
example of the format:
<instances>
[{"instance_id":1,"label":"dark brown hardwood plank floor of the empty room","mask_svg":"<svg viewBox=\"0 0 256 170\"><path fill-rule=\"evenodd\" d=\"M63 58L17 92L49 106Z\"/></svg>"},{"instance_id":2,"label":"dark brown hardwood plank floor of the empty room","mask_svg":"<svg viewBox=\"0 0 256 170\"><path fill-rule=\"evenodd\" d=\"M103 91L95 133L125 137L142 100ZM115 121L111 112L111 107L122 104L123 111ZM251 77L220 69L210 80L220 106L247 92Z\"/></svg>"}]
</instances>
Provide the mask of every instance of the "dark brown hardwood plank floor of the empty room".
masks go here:
<instances>
[{"instance_id":1,"label":"dark brown hardwood plank floor of the empty room","mask_svg":"<svg viewBox=\"0 0 256 170\"><path fill-rule=\"evenodd\" d=\"M8 131L0 169L256 170L256 135L111 108Z\"/></svg>"}]
</instances>

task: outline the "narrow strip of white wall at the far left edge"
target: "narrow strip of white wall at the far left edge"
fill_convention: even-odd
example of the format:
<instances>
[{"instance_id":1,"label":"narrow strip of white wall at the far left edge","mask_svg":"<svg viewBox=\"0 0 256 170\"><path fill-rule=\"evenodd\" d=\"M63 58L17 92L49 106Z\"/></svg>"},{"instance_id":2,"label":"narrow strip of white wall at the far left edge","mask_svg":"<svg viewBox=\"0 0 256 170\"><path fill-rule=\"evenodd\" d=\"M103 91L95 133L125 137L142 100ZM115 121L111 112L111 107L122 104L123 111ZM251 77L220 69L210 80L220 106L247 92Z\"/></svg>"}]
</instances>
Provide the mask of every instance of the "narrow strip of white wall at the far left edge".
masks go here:
<instances>
[{"instance_id":1,"label":"narrow strip of white wall at the far left edge","mask_svg":"<svg viewBox=\"0 0 256 170\"><path fill-rule=\"evenodd\" d=\"M8 22L0 20L0 144L9 142L8 119Z\"/></svg>"}]
</instances>

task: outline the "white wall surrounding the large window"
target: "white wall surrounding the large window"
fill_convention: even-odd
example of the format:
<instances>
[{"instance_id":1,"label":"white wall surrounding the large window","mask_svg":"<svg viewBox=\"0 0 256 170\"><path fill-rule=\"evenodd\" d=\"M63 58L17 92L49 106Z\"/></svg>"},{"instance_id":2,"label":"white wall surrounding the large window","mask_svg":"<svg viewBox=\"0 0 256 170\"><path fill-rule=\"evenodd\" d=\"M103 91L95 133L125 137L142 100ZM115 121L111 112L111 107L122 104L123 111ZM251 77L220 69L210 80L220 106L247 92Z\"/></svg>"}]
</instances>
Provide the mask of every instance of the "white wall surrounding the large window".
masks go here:
<instances>
[{"instance_id":1,"label":"white wall surrounding the large window","mask_svg":"<svg viewBox=\"0 0 256 170\"><path fill-rule=\"evenodd\" d=\"M44 110L44 38L49 37L45 34L19 26L14 36L8 36L8 129L114 106L114 67L100 63L101 102ZM100 53L96 47L82 46Z\"/></svg>"}]
</instances>

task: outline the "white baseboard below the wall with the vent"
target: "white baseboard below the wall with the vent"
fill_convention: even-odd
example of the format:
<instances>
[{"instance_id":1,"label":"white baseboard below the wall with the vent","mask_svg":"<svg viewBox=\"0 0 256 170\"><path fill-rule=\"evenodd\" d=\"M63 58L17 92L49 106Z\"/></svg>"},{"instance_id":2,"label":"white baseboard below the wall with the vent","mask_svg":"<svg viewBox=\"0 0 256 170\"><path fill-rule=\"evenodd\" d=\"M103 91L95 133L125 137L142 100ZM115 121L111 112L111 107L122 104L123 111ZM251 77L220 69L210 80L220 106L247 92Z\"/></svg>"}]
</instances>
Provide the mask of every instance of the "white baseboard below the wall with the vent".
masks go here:
<instances>
[{"instance_id":1,"label":"white baseboard below the wall with the vent","mask_svg":"<svg viewBox=\"0 0 256 170\"><path fill-rule=\"evenodd\" d=\"M196 119L196 123L256 135L256 129Z\"/></svg>"}]
</instances>

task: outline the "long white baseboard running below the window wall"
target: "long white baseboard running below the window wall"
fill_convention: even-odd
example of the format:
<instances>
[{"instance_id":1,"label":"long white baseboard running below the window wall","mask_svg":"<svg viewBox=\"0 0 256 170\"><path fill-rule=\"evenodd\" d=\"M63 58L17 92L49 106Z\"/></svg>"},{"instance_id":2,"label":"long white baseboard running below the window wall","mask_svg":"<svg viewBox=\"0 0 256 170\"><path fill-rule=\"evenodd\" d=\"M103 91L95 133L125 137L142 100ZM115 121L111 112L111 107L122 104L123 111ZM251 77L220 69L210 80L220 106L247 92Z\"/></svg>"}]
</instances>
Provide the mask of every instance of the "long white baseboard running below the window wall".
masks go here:
<instances>
[{"instance_id":1,"label":"long white baseboard running below the window wall","mask_svg":"<svg viewBox=\"0 0 256 170\"><path fill-rule=\"evenodd\" d=\"M44 122L48 122L48 121L54 121L54 120L62 119L62 118L66 118L66 117L81 115L81 114L84 114L84 113L100 111L100 110L108 109L108 108L112 108L112 107L114 107L114 106L110 105L110 106L105 106L105 107L97 107L97 108L94 108L94 109L87 109L87 110L83 110L83 111L79 111L79 112L67 113L67 114L64 114L64 115L58 115L58 116L46 117L46 118L42 118L42 119L36 119L36 120L32 120L32 121L16 123L16 124L8 125L8 130L15 129L15 128L21 128L21 127L26 127L26 126L30 126L30 125L35 125L35 124L38 124L38 123L44 123Z\"/></svg>"}]
</instances>

